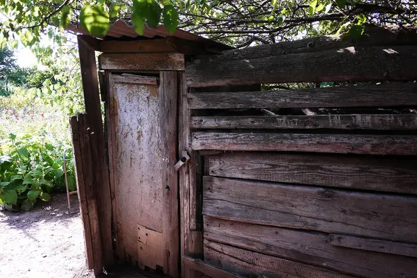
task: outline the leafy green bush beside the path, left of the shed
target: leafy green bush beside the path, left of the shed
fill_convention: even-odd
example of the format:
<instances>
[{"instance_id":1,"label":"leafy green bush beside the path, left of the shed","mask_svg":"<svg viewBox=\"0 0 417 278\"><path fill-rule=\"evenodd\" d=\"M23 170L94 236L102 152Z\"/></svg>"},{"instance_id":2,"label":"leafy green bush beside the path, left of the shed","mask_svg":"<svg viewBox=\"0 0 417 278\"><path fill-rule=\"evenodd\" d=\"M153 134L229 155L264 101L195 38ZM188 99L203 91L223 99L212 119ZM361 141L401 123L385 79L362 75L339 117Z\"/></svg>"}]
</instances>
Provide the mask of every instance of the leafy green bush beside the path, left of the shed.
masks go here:
<instances>
[{"instance_id":1,"label":"leafy green bush beside the path, left of the shed","mask_svg":"<svg viewBox=\"0 0 417 278\"><path fill-rule=\"evenodd\" d=\"M0 204L29 211L40 199L51 199L51 190L65 188L63 145L51 145L43 138L10 133L0 149ZM75 190L72 155L66 153L70 190Z\"/></svg>"}]
</instances>

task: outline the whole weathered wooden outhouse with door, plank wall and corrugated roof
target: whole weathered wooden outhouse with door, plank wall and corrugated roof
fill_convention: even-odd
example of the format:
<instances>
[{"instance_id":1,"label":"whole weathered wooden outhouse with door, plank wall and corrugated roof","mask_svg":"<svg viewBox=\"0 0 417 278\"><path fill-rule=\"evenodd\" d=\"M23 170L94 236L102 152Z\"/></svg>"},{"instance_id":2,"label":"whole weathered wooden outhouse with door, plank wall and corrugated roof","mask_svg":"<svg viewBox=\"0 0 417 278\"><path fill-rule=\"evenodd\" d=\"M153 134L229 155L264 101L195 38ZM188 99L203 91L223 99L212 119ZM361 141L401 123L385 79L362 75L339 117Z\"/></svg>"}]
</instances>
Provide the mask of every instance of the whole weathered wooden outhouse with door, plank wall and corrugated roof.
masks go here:
<instances>
[{"instance_id":1,"label":"whole weathered wooden outhouse with door, plank wall and corrugated roof","mask_svg":"<svg viewBox=\"0 0 417 278\"><path fill-rule=\"evenodd\" d=\"M119 20L78 40L96 275L416 277L416 29L236 50Z\"/></svg>"}]
</instances>

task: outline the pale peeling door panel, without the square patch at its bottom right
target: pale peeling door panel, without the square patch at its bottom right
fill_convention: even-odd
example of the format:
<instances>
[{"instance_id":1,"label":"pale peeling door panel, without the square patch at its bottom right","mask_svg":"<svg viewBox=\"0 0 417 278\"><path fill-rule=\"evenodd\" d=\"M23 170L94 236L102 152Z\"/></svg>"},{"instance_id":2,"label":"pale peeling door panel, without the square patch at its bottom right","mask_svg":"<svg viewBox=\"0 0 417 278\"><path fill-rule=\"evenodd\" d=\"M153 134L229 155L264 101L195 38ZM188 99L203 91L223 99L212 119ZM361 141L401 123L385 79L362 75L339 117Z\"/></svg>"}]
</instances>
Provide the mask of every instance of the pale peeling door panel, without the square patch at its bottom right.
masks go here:
<instances>
[{"instance_id":1,"label":"pale peeling door panel, without the square patch at its bottom right","mask_svg":"<svg viewBox=\"0 0 417 278\"><path fill-rule=\"evenodd\" d=\"M117 230L126 260L134 263L138 261L137 225L158 232L163 229L158 87L156 82L113 79L112 83Z\"/></svg>"}]
</instances>

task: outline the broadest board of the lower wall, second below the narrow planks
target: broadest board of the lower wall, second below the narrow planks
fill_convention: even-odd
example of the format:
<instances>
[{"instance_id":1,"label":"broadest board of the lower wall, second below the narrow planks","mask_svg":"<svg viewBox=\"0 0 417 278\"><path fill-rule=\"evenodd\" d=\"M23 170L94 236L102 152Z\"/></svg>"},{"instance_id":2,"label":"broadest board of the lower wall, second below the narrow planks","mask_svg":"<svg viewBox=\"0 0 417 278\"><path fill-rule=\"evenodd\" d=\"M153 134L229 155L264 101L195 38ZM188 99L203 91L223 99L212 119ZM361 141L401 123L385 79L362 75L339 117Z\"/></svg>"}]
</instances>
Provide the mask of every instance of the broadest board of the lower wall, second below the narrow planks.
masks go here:
<instances>
[{"instance_id":1,"label":"broadest board of the lower wall, second below the narrow planks","mask_svg":"<svg viewBox=\"0 0 417 278\"><path fill-rule=\"evenodd\" d=\"M204 215L417 243L417 197L204 177Z\"/></svg>"}]
</instances>

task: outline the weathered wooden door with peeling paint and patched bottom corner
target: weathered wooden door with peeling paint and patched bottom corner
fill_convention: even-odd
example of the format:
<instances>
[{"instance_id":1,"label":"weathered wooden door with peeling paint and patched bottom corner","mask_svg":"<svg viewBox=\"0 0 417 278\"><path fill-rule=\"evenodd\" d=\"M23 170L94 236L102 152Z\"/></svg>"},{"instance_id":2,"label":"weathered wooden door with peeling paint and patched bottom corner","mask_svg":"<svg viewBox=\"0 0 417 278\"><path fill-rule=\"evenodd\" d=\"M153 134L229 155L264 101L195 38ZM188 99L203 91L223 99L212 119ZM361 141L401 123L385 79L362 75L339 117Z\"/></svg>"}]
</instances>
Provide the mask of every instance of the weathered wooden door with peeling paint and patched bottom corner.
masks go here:
<instances>
[{"instance_id":1,"label":"weathered wooden door with peeling paint and patched bottom corner","mask_svg":"<svg viewBox=\"0 0 417 278\"><path fill-rule=\"evenodd\" d=\"M120 261L177 276L177 72L108 73L113 235Z\"/></svg>"}]
</instances>

